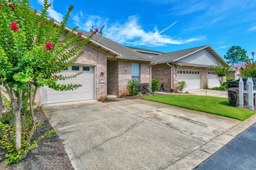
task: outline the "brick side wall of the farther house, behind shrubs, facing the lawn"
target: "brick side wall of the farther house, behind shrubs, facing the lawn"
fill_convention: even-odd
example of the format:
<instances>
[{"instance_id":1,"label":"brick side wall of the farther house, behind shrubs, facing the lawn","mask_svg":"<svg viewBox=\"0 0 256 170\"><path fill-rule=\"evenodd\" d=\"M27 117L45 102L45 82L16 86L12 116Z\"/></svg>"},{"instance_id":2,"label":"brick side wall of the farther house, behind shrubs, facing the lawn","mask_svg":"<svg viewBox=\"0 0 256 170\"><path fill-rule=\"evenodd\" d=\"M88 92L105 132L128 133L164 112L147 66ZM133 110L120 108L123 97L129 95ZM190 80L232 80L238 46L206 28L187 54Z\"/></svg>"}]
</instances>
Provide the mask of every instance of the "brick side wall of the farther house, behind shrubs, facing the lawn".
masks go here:
<instances>
[{"instance_id":1,"label":"brick side wall of the farther house, behind shrubs, facing the lawn","mask_svg":"<svg viewBox=\"0 0 256 170\"><path fill-rule=\"evenodd\" d=\"M164 64L156 64L151 68L152 79L159 79L165 85L165 91L171 91L171 67Z\"/></svg>"}]
</instances>

